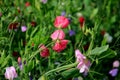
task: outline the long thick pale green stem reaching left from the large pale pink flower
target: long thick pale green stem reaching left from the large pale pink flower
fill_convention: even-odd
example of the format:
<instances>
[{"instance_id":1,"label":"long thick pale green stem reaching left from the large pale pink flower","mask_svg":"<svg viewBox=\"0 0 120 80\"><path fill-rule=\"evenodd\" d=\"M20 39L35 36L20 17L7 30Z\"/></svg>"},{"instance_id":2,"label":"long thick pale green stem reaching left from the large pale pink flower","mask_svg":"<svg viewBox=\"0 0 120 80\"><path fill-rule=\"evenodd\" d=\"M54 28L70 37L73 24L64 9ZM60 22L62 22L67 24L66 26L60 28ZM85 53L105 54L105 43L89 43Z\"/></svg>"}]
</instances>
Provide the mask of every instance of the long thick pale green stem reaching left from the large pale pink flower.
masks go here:
<instances>
[{"instance_id":1,"label":"long thick pale green stem reaching left from the large pale pink flower","mask_svg":"<svg viewBox=\"0 0 120 80\"><path fill-rule=\"evenodd\" d=\"M50 73L55 72L55 71L62 71L62 70L65 70L65 69L69 69L69 68L71 68L71 67L76 66L77 64L78 64L78 63L75 62L75 63L73 63L73 64L69 64L69 65L65 65L65 66L62 66L62 67L58 67L58 68L56 68L56 69L52 69L52 70L46 72L44 75L49 75Z\"/></svg>"}]
</instances>

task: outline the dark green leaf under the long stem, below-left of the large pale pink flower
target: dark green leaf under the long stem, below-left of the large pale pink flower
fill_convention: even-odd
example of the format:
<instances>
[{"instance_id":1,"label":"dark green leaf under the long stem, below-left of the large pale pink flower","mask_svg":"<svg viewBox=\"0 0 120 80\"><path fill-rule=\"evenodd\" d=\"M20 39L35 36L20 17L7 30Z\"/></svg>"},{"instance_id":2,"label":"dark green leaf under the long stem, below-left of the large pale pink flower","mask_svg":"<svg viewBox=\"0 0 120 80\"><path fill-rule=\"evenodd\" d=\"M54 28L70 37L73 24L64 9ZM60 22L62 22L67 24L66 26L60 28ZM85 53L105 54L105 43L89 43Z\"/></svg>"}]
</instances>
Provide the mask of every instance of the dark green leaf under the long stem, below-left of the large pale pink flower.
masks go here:
<instances>
[{"instance_id":1,"label":"dark green leaf under the long stem, below-left of the large pale pink flower","mask_svg":"<svg viewBox=\"0 0 120 80\"><path fill-rule=\"evenodd\" d=\"M61 75L63 76L63 78L68 79L70 77L74 77L77 73L79 74L79 70L77 68L71 68L62 72Z\"/></svg>"}]
</instances>

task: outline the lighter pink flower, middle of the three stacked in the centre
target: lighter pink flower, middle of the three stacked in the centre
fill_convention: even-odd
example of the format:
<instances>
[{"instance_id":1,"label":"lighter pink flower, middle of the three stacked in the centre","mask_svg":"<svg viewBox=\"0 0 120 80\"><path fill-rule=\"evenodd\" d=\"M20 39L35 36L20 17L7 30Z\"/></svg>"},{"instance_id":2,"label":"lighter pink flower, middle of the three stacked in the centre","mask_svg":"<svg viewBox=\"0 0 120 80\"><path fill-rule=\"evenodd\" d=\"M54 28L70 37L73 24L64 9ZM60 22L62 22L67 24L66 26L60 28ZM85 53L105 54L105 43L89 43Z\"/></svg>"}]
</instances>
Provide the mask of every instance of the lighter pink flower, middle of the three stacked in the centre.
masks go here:
<instances>
[{"instance_id":1,"label":"lighter pink flower, middle of the three stacked in the centre","mask_svg":"<svg viewBox=\"0 0 120 80\"><path fill-rule=\"evenodd\" d=\"M65 33L63 32L63 30L56 30L52 35L51 38L53 40L56 39L64 39L65 38Z\"/></svg>"}]
</instances>

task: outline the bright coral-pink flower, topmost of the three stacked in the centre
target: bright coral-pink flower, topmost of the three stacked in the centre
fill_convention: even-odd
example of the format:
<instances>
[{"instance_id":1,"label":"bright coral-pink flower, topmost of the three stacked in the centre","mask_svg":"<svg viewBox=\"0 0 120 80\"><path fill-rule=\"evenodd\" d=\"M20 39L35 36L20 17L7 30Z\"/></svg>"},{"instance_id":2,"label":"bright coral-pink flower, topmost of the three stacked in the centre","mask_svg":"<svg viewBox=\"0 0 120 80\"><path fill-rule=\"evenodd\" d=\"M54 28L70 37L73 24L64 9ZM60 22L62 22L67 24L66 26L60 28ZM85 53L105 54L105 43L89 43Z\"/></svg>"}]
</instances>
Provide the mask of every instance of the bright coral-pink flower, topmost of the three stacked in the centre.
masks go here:
<instances>
[{"instance_id":1,"label":"bright coral-pink flower, topmost of the three stacked in the centre","mask_svg":"<svg viewBox=\"0 0 120 80\"><path fill-rule=\"evenodd\" d=\"M66 28L69 25L69 20L64 16L57 16L54 21L56 28Z\"/></svg>"}]
</instances>

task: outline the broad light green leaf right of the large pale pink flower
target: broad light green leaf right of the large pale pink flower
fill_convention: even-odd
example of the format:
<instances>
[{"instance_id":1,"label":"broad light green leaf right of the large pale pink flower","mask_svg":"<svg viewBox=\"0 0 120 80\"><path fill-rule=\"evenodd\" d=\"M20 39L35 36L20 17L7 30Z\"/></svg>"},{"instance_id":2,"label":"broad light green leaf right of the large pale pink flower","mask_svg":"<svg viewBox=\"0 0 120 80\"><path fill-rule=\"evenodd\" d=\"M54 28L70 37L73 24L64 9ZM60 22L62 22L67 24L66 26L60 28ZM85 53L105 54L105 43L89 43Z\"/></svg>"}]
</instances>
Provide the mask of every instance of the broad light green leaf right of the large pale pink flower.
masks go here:
<instances>
[{"instance_id":1,"label":"broad light green leaf right of the large pale pink flower","mask_svg":"<svg viewBox=\"0 0 120 80\"><path fill-rule=\"evenodd\" d=\"M100 55L101 53L105 52L108 49L108 45L102 47L96 47L90 53L90 55Z\"/></svg>"}]
</instances>

